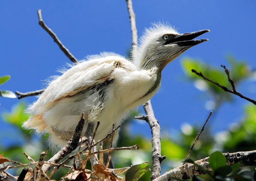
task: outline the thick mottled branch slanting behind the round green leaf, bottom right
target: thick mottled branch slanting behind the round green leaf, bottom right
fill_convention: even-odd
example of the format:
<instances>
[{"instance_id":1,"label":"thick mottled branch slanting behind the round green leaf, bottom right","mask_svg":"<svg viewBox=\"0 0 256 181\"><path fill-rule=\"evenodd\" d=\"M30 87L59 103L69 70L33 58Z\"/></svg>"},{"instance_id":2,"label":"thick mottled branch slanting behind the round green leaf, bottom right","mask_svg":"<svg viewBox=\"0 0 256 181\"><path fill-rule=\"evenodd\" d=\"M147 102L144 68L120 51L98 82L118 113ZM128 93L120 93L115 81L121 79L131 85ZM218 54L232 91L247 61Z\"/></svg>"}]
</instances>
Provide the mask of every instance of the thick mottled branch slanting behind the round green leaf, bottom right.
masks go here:
<instances>
[{"instance_id":1,"label":"thick mottled branch slanting behind the round green leaf, bottom right","mask_svg":"<svg viewBox=\"0 0 256 181\"><path fill-rule=\"evenodd\" d=\"M224 153L223 155L225 155L227 159L226 165L233 165L238 162L240 163L241 167L256 165L256 150L247 152ZM192 178L193 175L205 175L206 173L212 171L209 165L209 157L197 160L195 163L203 167L205 171L197 168L192 163L188 163L178 168L172 169L168 172L165 172L154 181L174 181L176 180L175 178L187 180Z\"/></svg>"}]
</instances>

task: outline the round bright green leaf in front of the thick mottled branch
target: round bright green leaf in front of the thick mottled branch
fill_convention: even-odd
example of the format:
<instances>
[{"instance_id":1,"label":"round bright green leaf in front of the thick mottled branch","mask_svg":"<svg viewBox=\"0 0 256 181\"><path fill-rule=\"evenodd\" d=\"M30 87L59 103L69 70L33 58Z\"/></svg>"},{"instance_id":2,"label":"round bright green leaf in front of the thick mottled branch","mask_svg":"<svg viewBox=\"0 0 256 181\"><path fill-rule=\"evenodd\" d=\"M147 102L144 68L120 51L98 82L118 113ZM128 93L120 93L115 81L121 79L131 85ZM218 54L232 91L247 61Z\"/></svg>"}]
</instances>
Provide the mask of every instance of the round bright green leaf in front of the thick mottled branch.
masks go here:
<instances>
[{"instance_id":1,"label":"round bright green leaf in front of the thick mottled branch","mask_svg":"<svg viewBox=\"0 0 256 181\"><path fill-rule=\"evenodd\" d=\"M212 170L217 170L219 167L226 166L226 157L219 151L215 151L210 155L209 164Z\"/></svg>"}]
</instances>

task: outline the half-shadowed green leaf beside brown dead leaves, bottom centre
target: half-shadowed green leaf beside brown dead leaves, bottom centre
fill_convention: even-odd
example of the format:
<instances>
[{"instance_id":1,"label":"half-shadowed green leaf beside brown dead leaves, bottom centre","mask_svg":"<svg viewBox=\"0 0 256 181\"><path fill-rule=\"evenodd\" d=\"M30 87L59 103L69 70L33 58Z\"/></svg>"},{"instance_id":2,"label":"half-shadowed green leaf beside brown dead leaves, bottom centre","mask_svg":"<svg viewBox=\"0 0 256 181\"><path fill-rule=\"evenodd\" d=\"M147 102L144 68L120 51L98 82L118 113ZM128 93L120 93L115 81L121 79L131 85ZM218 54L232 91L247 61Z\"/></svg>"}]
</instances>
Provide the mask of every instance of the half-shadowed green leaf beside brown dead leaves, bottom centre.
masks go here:
<instances>
[{"instance_id":1,"label":"half-shadowed green leaf beside brown dead leaves, bottom centre","mask_svg":"<svg viewBox=\"0 0 256 181\"><path fill-rule=\"evenodd\" d=\"M133 165L125 174L125 181L137 181L149 169L148 162Z\"/></svg>"}]
</instances>

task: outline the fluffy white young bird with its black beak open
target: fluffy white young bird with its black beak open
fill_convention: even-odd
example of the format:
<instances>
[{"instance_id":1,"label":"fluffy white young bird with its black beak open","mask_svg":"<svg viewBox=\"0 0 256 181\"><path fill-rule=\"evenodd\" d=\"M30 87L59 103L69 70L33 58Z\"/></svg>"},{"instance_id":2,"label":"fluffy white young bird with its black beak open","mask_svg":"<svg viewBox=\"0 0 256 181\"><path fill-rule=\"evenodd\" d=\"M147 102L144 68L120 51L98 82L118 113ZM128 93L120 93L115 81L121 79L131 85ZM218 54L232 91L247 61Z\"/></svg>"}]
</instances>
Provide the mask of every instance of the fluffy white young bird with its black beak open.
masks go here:
<instances>
[{"instance_id":1,"label":"fluffy white young bird with its black beak open","mask_svg":"<svg viewBox=\"0 0 256 181\"><path fill-rule=\"evenodd\" d=\"M119 126L129 110L156 94L164 67L184 51L207 41L192 40L209 32L201 30L179 34L161 23L145 30L132 60L114 53L90 56L53 80L27 112L23 127L50 133L60 147L67 144L82 113L83 134L88 122L100 121L95 140L104 138ZM117 138L117 136L116 136Z\"/></svg>"}]
</instances>

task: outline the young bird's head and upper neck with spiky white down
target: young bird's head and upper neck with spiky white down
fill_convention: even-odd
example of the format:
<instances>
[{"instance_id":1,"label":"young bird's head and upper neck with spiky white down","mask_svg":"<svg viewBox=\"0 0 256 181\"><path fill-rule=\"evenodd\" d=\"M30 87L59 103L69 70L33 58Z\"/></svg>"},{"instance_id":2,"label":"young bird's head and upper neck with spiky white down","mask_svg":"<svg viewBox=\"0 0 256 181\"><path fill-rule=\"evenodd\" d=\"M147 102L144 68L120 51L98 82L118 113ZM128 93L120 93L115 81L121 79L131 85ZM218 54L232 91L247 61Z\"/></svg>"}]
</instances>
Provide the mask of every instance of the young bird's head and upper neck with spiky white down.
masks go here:
<instances>
[{"instance_id":1,"label":"young bird's head and upper neck with spiky white down","mask_svg":"<svg viewBox=\"0 0 256 181\"><path fill-rule=\"evenodd\" d=\"M157 68L162 71L168 63L187 49L208 41L208 39L193 39L209 31L200 30L179 34L171 26L161 23L153 24L140 38L138 50L132 52L134 63L144 70Z\"/></svg>"}]
</instances>

